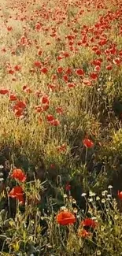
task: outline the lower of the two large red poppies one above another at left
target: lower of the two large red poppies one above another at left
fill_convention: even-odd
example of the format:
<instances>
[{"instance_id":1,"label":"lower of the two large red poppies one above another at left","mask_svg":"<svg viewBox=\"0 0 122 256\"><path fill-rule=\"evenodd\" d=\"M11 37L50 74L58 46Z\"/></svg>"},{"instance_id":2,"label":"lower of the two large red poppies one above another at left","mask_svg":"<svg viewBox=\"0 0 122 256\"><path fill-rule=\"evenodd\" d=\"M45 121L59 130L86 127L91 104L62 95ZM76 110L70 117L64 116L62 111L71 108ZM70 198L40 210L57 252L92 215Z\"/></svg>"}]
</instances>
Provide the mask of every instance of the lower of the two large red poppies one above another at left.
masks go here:
<instances>
[{"instance_id":1,"label":"lower of the two large red poppies one above another at left","mask_svg":"<svg viewBox=\"0 0 122 256\"><path fill-rule=\"evenodd\" d=\"M9 197L17 198L19 202L24 203L24 193L20 186L13 187L13 189L9 192Z\"/></svg>"}]
</instances>

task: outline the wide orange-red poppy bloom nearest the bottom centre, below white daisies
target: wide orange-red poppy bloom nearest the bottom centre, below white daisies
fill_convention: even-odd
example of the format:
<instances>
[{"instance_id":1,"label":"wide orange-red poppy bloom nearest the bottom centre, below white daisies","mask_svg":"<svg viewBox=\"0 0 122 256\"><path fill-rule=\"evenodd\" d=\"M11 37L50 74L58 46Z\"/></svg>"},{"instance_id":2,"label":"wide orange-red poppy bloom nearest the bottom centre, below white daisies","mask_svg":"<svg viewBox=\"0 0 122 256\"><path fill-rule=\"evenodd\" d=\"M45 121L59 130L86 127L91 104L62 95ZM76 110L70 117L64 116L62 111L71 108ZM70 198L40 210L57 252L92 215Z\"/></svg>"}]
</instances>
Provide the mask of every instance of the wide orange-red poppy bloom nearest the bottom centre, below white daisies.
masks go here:
<instances>
[{"instance_id":1,"label":"wide orange-red poppy bloom nearest the bottom centre, below white daisies","mask_svg":"<svg viewBox=\"0 0 122 256\"><path fill-rule=\"evenodd\" d=\"M75 223L76 217L68 211L61 211L57 214L56 220L58 224L67 225Z\"/></svg>"}]
</instances>

